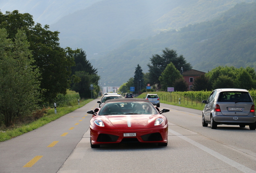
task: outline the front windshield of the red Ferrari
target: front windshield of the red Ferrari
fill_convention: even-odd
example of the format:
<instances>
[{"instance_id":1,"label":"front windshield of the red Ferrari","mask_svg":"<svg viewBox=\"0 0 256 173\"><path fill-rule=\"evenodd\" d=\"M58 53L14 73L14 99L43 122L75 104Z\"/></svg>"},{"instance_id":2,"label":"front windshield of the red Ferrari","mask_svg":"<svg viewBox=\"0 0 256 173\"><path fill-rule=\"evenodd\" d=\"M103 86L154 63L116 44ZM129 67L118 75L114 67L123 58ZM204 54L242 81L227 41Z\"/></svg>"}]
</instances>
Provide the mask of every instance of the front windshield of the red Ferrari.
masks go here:
<instances>
[{"instance_id":1,"label":"front windshield of the red Ferrari","mask_svg":"<svg viewBox=\"0 0 256 173\"><path fill-rule=\"evenodd\" d=\"M130 114L158 114L151 103L144 101L124 101L105 103L98 115L130 115Z\"/></svg>"}]
</instances>

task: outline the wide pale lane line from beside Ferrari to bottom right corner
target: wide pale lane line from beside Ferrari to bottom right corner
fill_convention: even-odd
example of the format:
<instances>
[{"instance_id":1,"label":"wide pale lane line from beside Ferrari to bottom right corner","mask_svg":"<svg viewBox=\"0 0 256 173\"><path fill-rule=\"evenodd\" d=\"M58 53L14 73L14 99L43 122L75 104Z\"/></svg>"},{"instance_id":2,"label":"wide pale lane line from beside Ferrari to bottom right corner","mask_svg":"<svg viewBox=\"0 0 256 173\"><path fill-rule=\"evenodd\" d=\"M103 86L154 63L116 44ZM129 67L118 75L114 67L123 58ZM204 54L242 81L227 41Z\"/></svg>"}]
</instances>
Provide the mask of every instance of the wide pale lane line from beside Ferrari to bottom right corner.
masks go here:
<instances>
[{"instance_id":1,"label":"wide pale lane line from beside Ferrari to bottom right corner","mask_svg":"<svg viewBox=\"0 0 256 173\"><path fill-rule=\"evenodd\" d=\"M185 136L181 135L178 132L175 132L171 129L168 129L168 131L170 133L173 133L174 135L177 135L181 139L191 143L192 145L198 147L199 149L205 151L206 153L209 153L210 155L216 157L217 159L220 159L221 161L229 164L230 166L235 167L236 169L238 169L238 170L240 170L244 173L256 173L256 171L254 171L254 170L252 170L252 169L250 169L250 168L248 168L248 167L246 167L246 166L244 166L240 163L237 163L237 162L221 155L220 153L217 153L216 151L213 151L212 149L209 149L209 148L205 147L204 145L201 145L200 143L197 143L196 141L193 141L192 139L189 139L188 137L185 137Z\"/></svg>"}]
</instances>

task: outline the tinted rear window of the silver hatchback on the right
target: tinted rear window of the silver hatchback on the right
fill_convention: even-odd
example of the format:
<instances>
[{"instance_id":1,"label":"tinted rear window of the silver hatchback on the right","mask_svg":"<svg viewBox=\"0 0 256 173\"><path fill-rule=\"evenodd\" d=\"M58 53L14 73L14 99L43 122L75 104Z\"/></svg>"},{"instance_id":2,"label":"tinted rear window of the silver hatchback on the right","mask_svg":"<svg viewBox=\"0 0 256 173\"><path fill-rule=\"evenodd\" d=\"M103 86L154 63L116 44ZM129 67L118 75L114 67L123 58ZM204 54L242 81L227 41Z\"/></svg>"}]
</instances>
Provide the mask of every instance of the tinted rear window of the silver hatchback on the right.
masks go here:
<instances>
[{"instance_id":1,"label":"tinted rear window of the silver hatchback on the right","mask_svg":"<svg viewBox=\"0 0 256 173\"><path fill-rule=\"evenodd\" d=\"M218 102L252 102L252 98L247 92L221 92Z\"/></svg>"}]
</instances>

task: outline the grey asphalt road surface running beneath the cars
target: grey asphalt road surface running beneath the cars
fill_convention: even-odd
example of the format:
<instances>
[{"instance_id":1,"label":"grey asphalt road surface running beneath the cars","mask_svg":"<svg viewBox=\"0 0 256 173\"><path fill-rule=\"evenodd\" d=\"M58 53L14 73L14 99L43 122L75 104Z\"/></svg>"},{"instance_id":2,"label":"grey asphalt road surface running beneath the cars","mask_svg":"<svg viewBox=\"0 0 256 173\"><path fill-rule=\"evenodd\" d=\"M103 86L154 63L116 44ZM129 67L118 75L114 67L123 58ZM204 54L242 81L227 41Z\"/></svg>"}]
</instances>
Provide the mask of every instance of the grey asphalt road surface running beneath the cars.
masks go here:
<instances>
[{"instance_id":1,"label":"grey asphalt road surface running beneath the cars","mask_svg":"<svg viewBox=\"0 0 256 173\"><path fill-rule=\"evenodd\" d=\"M160 109L170 109L164 113L167 147L116 144L92 149L91 115L86 111L96 107L97 100L0 143L0 173L256 173L256 131L248 126L202 127L202 111L161 104Z\"/></svg>"}]
</instances>

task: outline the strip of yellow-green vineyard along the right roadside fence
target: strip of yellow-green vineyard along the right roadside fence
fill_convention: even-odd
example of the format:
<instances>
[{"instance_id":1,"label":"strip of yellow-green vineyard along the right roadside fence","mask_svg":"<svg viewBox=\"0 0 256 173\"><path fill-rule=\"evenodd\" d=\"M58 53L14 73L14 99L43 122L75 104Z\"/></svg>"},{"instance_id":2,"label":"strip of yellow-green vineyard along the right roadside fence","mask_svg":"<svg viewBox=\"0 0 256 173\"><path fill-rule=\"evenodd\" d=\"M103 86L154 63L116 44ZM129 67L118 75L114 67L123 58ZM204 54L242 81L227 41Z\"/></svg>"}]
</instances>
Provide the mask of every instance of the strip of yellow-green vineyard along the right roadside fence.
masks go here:
<instances>
[{"instance_id":1,"label":"strip of yellow-green vineyard along the right roadside fence","mask_svg":"<svg viewBox=\"0 0 256 173\"><path fill-rule=\"evenodd\" d=\"M149 94L149 93L147 93ZM191 100L188 99L188 97L180 96L178 94L174 93L168 93L168 92L151 92L151 94L157 94L158 97L160 97L160 105L161 103L169 104L169 105L175 105L175 106L180 106L180 107L186 107L186 108L191 108L191 109L197 109L197 110L203 110L204 105L202 104L202 100ZM142 93L139 95L138 99L143 99L146 97L146 93ZM178 101L177 101L178 98ZM179 104L179 98L181 98L180 104ZM174 101L175 100L175 101Z\"/></svg>"}]
</instances>

